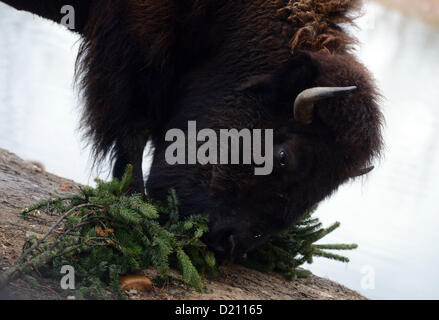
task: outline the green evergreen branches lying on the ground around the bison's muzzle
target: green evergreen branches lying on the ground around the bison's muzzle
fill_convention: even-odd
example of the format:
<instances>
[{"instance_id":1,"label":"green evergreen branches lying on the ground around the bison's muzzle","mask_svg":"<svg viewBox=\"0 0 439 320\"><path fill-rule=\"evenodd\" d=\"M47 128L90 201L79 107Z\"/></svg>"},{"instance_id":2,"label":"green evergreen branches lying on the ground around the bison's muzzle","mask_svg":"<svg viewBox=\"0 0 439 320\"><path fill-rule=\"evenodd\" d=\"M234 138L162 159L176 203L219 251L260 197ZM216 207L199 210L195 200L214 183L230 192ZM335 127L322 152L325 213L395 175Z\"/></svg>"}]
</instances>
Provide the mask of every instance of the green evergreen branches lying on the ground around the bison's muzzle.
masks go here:
<instances>
[{"instance_id":1,"label":"green evergreen branches lying on the ground around the bison's muzzle","mask_svg":"<svg viewBox=\"0 0 439 320\"><path fill-rule=\"evenodd\" d=\"M151 267L157 270L159 283L168 281L171 268L175 268L185 284L202 292L202 276L218 274L215 256L201 240L209 231L208 218L194 215L181 220L173 190L167 205L145 201L142 195L128 195L131 177L129 166L121 181L97 181L96 188L83 187L78 195L44 200L25 209L27 219L33 219L39 210L60 215L60 219L43 239L28 239L17 264L0 274L0 288L35 268L45 277L59 279L61 267L71 265L79 284L78 298L124 297L120 276ZM314 211L239 263L297 279L310 274L299 267L312 263L315 256L348 262L327 250L351 250L356 245L315 244L340 224L322 228L312 217Z\"/></svg>"}]
</instances>

